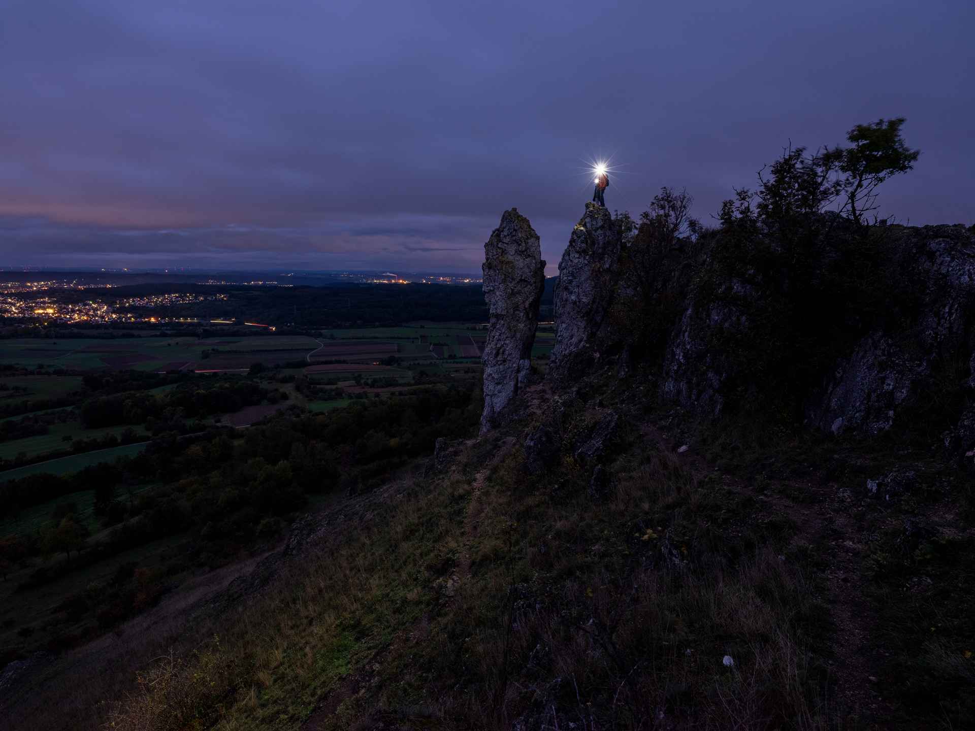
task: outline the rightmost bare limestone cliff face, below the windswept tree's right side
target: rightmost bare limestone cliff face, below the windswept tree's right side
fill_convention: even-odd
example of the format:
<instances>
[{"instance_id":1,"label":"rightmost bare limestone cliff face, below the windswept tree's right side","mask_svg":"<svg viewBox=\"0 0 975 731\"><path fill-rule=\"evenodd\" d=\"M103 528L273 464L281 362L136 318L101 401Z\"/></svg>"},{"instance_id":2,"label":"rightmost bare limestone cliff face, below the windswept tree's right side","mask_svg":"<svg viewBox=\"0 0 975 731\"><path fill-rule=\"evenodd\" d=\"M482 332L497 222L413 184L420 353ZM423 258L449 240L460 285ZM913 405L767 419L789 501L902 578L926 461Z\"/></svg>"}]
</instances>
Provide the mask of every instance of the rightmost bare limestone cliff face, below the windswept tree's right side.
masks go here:
<instances>
[{"instance_id":1,"label":"rightmost bare limestone cliff face, below the windswept tree's right side","mask_svg":"<svg viewBox=\"0 0 975 731\"><path fill-rule=\"evenodd\" d=\"M967 388L975 392L975 238L961 226L924 226L889 245L910 263L917 324L868 333L827 375L807 413L834 434L889 429L899 409L952 362L967 364ZM967 431L958 425L957 449L973 445Z\"/></svg>"}]
</instances>

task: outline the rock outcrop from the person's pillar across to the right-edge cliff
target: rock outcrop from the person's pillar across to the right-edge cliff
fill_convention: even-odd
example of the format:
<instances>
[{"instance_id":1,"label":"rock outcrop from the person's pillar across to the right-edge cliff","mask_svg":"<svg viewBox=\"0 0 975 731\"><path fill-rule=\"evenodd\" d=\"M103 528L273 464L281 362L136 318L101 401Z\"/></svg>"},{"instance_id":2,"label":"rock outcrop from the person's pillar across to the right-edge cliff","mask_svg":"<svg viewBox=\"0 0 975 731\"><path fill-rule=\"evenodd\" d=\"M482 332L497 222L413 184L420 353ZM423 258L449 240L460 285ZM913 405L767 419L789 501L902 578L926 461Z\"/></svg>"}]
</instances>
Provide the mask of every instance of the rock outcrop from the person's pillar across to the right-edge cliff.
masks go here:
<instances>
[{"instance_id":1,"label":"rock outcrop from the person's pillar across to the right-edge cliff","mask_svg":"<svg viewBox=\"0 0 975 731\"><path fill-rule=\"evenodd\" d=\"M587 204L559 264L549 381L565 390L626 361L639 331L638 352L659 354L660 395L703 416L767 403L775 418L877 435L933 395L956 404L942 408L955 424L945 447L975 453L975 232L864 232L836 214L823 226L809 241L714 232L672 257L654 294L622 263L638 244L624 250L610 213ZM654 296L663 319L651 342L626 311L645 314Z\"/></svg>"}]
</instances>

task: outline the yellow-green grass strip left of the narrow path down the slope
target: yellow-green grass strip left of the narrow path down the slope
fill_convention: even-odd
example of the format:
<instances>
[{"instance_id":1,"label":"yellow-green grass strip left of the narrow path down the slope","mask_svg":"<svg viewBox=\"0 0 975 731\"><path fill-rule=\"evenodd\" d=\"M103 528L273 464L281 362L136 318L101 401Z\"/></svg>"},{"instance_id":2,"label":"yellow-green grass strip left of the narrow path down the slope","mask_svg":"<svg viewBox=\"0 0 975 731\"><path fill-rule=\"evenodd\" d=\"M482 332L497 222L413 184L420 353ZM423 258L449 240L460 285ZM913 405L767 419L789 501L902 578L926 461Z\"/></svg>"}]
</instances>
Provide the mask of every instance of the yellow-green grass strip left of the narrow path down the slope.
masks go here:
<instances>
[{"instance_id":1,"label":"yellow-green grass strip left of the narrow path down the slope","mask_svg":"<svg viewBox=\"0 0 975 731\"><path fill-rule=\"evenodd\" d=\"M221 621L222 633L167 656L116 703L111 728L296 728L337 682L409 626L430 600L425 576L443 510L404 485L389 521L372 519L286 569L262 596ZM387 506L393 512L393 506ZM383 511L386 512L386 511ZM364 517L366 518L366 517Z\"/></svg>"}]
</instances>

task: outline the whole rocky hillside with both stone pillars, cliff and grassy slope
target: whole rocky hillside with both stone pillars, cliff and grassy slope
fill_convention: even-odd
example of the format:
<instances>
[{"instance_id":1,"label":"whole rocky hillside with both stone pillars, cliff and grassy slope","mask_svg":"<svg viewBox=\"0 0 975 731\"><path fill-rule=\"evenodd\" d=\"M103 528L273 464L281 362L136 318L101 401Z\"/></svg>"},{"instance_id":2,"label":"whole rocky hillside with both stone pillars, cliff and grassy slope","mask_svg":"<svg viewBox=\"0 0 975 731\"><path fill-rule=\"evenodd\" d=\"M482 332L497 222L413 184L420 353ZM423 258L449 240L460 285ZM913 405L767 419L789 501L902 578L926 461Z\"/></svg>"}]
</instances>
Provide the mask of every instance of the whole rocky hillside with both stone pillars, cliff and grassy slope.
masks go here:
<instances>
[{"instance_id":1,"label":"whole rocky hillside with both stone pillars, cliff and grassy slope","mask_svg":"<svg viewBox=\"0 0 975 731\"><path fill-rule=\"evenodd\" d=\"M505 213L483 433L299 521L87 727L970 725L973 234L725 212L587 205L530 368Z\"/></svg>"}]
</instances>

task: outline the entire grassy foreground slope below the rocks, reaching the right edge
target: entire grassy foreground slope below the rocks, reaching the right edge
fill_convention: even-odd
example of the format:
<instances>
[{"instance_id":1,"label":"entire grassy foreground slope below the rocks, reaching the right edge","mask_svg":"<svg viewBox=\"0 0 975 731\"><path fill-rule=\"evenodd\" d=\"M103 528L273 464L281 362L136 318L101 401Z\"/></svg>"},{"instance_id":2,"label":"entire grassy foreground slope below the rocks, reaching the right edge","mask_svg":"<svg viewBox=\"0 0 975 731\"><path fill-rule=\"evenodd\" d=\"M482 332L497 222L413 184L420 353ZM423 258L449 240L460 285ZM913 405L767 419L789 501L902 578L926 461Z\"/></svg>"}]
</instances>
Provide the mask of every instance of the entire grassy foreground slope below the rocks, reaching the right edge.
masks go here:
<instances>
[{"instance_id":1,"label":"entire grassy foreground slope below the rocks, reaching the right edge","mask_svg":"<svg viewBox=\"0 0 975 731\"><path fill-rule=\"evenodd\" d=\"M569 404L565 429L597 416ZM900 452L713 435L679 455L680 422L630 418L602 494L570 451L527 478L512 427L326 515L268 591L76 727L964 726L975 540L951 469L881 501L864 478Z\"/></svg>"}]
</instances>

